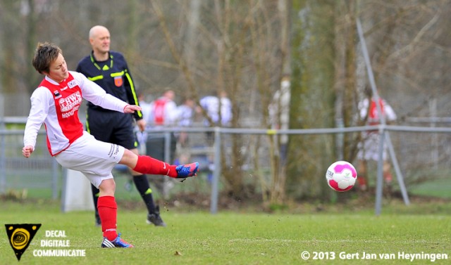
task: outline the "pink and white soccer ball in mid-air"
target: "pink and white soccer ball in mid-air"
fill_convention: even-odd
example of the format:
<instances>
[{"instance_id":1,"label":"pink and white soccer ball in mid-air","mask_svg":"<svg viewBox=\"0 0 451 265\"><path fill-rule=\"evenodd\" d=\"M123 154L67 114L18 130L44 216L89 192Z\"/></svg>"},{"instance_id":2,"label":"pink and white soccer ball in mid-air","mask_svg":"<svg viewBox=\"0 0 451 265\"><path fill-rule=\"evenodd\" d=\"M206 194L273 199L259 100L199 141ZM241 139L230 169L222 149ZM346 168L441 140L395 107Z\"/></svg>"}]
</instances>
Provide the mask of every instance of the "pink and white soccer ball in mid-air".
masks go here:
<instances>
[{"instance_id":1,"label":"pink and white soccer ball in mid-air","mask_svg":"<svg viewBox=\"0 0 451 265\"><path fill-rule=\"evenodd\" d=\"M350 162L337 161L327 169L326 180L333 190L347 191L354 186L357 180L357 171Z\"/></svg>"}]
</instances>

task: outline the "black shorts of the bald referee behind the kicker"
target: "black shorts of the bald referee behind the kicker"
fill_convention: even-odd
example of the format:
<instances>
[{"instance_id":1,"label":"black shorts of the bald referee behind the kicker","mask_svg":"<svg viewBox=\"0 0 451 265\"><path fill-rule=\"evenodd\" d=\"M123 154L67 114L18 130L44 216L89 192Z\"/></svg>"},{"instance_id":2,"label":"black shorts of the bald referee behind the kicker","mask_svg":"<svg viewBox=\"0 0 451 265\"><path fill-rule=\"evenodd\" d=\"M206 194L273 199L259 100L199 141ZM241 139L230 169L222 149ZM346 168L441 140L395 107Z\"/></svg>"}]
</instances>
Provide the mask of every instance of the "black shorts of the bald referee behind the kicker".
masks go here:
<instances>
[{"instance_id":1,"label":"black shorts of the bald referee behind the kicker","mask_svg":"<svg viewBox=\"0 0 451 265\"><path fill-rule=\"evenodd\" d=\"M99 141L116 143L127 149L137 148L130 113L87 108L86 129Z\"/></svg>"}]
</instances>

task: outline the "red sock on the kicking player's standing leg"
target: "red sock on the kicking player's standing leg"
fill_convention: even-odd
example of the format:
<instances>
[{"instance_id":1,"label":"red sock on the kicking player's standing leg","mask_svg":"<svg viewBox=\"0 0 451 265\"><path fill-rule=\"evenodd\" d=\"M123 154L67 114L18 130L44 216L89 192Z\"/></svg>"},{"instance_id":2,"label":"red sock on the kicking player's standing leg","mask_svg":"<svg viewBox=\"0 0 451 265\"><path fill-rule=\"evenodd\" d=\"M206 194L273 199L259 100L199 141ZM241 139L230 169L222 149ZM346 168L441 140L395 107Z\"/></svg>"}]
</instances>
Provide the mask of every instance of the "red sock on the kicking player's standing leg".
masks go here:
<instances>
[{"instance_id":1,"label":"red sock on the kicking player's standing leg","mask_svg":"<svg viewBox=\"0 0 451 265\"><path fill-rule=\"evenodd\" d=\"M104 237L110 241L118 237L116 231L116 218L118 215L118 205L113 196L101 196L97 200L97 210L101 221L101 231Z\"/></svg>"}]
</instances>

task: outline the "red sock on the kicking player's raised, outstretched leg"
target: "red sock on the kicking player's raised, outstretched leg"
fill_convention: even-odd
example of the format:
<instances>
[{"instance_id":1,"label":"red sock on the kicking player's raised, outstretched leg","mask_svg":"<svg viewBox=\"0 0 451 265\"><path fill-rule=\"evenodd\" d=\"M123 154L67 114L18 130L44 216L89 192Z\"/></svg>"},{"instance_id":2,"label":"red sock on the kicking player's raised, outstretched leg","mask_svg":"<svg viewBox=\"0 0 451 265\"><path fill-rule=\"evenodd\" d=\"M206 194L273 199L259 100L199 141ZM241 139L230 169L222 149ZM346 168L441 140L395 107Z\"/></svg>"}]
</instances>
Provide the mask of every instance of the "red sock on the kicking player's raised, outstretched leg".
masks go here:
<instances>
[{"instance_id":1,"label":"red sock on the kicking player's raised, outstretched leg","mask_svg":"<svg viewBox=\"0 0 451 265\"><path fill-rule=\"evenodd\" d=\"M142 174L166 175L175 178L177 176L175 167L177 166L156 160L147 155L138 155L138 162L133 170Z\"/></svg>"}]
</instances>

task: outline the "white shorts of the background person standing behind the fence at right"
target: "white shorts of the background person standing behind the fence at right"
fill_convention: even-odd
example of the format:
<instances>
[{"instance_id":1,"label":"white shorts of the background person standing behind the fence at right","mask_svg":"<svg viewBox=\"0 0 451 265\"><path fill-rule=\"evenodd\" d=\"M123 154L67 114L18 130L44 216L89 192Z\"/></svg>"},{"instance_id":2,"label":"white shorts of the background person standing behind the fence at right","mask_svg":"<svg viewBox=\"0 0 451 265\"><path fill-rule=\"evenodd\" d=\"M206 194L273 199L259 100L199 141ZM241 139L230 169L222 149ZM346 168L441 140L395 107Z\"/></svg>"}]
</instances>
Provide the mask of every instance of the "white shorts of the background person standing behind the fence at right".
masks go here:
<instances>
[{"instance_id":1,"label":"white shorts of the background person standing behind the fence at right","mask_svg":"<svg viewBox=\"0 0 451 265\"><path fill-rule=\"evenodd\" d=\"M362 135L362 142L357 146L359 152L357 153L358 160L379 160L379 134L371 132ZM387 145L383 145L382 159L387 160Z\"/></svg>"}]
</instances>

